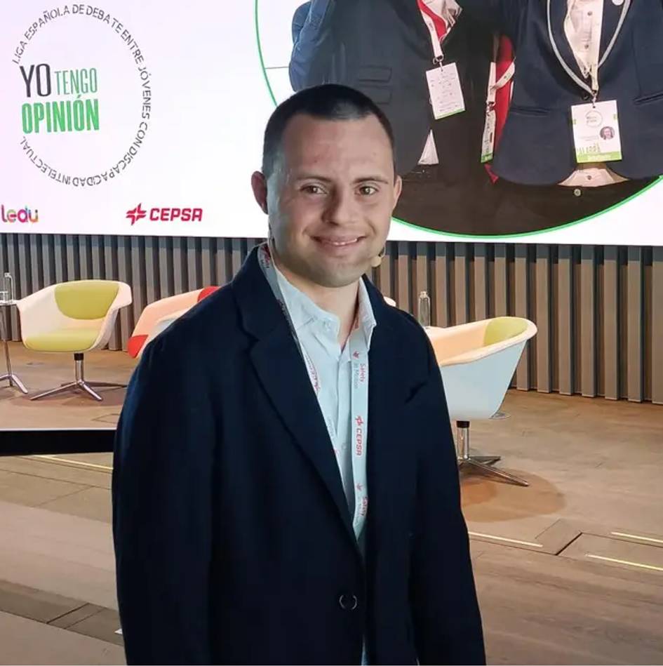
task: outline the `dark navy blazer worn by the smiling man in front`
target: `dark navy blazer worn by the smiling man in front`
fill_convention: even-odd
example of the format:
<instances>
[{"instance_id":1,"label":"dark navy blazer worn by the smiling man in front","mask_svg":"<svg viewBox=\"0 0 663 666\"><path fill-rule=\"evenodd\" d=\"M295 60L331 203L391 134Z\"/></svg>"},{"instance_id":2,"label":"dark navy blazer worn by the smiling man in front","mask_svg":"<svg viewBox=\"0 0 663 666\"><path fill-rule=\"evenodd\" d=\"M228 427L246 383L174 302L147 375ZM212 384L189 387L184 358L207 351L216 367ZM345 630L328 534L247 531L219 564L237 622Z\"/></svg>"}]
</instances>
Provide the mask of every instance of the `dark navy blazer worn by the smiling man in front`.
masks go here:
<instances>
[{"instance_id":1,"label":"dark navy blazer worn by the smiling man in front","mask_svg":"<svg viewBox=\"0 0 663 666\"><path fill-rule=\"evenodd\" d=\"M359 664L364 637L374 664L484 662L441 375L416 321L367 286L365 560L255 251L145 350L112 488L129 663Z\"/></svg>"}]
</instances>

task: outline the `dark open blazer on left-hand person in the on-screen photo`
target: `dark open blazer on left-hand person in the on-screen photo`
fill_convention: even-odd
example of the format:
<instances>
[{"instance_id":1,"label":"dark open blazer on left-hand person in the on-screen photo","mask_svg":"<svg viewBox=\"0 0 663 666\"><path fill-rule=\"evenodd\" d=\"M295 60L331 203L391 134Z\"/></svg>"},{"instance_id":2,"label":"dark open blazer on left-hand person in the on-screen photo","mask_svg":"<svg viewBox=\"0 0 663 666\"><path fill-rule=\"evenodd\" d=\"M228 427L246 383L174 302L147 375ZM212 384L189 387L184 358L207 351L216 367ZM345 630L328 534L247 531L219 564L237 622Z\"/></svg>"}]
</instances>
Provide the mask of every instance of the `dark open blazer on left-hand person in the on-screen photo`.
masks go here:
<instances>
[{"instance_id":1,"label":"dark open blazer on left-hand person in the on-screen photo","mask_svg":"<svg viewBox=\"0 0 663 666\"><path fill-rule=\"evenodd\" d=\"M444 41L445 62L457 65L466 110L437 121L426 79L436 65L417 0L312 0L295 11L293 37L295 91L333 83L368 95L394 128L398 173L417 166L432 130L445 184L488 181L481 138L493 34L481 22L461 13Z\"/></svg>"}]
</instances>

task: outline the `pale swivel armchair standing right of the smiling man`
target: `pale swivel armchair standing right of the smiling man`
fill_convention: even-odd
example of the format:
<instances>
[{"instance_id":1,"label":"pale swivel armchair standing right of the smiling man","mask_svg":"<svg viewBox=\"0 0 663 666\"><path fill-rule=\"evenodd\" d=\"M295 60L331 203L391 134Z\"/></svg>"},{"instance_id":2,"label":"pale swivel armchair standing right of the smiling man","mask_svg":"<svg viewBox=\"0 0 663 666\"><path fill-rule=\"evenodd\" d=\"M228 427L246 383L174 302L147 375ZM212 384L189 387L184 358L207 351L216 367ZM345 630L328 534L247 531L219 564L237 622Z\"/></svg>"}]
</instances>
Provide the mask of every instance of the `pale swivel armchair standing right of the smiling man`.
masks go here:
<instances>
[{"instance_id":1,"label":"pale swivel armchair standing right of the smiling man","mask_svg":"<svg viewBox=\"0 0 663 666\"><path fill-rule=\"evenodd\" d=\"M460 468L528 486L527 481L491 466L500 456L471 455L469 424L492 418L500 408L525 343L537 327L528 319L496 317L426 331L442 374L449 415L457 425Z\"/></svg>"}]
</instances>

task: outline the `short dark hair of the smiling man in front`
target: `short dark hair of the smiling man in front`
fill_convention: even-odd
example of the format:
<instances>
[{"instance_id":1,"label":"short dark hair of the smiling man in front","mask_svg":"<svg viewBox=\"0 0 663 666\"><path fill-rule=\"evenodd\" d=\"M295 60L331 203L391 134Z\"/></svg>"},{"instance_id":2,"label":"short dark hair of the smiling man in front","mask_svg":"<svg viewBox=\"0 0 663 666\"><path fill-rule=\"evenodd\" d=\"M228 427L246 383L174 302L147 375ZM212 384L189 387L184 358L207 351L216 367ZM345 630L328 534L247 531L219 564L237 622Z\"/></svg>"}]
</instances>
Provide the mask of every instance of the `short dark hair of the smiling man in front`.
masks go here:
<instances>
[{"instance_id":1,"label":"short dark hair of the smiling man in front","mask_svg":"<svg viewBox=\"0 0 663 666\"><path fill-rule=\"evenodd\" d=\"M394 131L382 109L369 97L348 86L324 84L304 88L281 102L267 122L262 147L262 173L269 178L279 158L283 133L294 116L306 114L321 120L360 120L375 116L389 137L394 152Z\"/></svg>"}]
</instances>

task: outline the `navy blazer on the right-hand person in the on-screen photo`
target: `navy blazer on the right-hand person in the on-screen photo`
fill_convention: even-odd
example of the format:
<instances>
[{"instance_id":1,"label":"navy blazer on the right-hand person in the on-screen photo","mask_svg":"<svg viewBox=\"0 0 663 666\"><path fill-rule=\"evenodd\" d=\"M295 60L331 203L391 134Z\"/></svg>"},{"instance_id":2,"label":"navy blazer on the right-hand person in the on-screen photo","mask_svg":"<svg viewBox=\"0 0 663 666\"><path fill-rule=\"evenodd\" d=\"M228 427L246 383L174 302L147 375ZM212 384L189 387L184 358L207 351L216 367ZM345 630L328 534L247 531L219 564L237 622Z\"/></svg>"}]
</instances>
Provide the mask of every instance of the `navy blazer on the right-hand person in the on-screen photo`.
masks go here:
<instances>
[{"instance_id":1,"label":"navy blazer on the right-hand person in the on-screen photo","mask_svg":"<svg viewBox=\"0 0 663 666\"><path fill-rule=\"evenodd\" d=\"M516 76L495 173L525 185L552 185L577 168L570 109L589 102L564 71L550 44L546 0L458 0L476 18L511 37ZM564 33L566 0L552 0L551 27L561 55L582 79ZM605 0L601 56L622 6ZM625 178L663 173L663 3L634 0L615 48L598 73L598 100L617 100L622 156L610 168Z\"/></svg>"}]
</instances>

